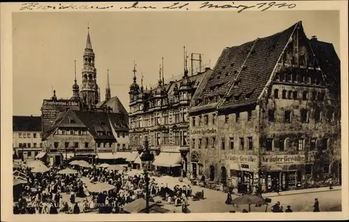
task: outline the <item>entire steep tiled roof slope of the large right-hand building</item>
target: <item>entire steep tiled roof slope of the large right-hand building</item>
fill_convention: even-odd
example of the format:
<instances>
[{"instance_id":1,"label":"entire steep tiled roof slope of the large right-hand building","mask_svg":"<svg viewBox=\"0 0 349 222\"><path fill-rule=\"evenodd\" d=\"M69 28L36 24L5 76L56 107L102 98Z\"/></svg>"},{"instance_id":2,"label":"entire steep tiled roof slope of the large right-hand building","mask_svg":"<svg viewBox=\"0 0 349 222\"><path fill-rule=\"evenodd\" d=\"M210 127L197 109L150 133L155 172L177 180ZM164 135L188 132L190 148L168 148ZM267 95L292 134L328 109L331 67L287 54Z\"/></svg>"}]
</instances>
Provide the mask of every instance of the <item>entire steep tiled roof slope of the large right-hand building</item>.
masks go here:
<instances>
[{"instance_id":1,"label":"entire steep tiled roof slope of the large right-hand building","mask_svg":"<svg viewBox=\"0 0 349 222\"><path fill-rule=\"evenodd\" d=\"M225 48L207 86L197 97L199 103L193 102L191 111L256 102L299 24L265 38Z\"/></svg>"}]
</instances>

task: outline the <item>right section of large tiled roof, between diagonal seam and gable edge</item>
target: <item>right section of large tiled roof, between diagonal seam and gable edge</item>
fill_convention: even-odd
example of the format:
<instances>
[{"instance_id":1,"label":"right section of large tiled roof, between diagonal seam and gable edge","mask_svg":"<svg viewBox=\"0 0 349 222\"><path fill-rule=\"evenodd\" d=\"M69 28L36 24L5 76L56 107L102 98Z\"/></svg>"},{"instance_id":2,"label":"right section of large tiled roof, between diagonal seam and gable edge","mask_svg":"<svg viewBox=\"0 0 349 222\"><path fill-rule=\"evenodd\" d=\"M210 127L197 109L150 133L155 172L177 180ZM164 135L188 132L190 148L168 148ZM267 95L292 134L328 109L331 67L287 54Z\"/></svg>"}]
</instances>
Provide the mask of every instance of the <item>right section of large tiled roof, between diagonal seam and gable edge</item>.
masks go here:
<instances>
[{"instance_id":1,"label":"right section of large tiled roof, between diagonal seam and gable edge","mask_svg":"<svg viewBox=\"0 0 349 222\"><path fill-rule=\"evenodd\" d=\"M283 50L288 45L292 33L299 24L294 24L274 35L255 40L251 53L248 54L244 67L236 79L237 86L234 86L233 83L228 92L229 95L225 97L220 108L257 102L262 90L267 86Z\"/></svg>"}]
</instances>

